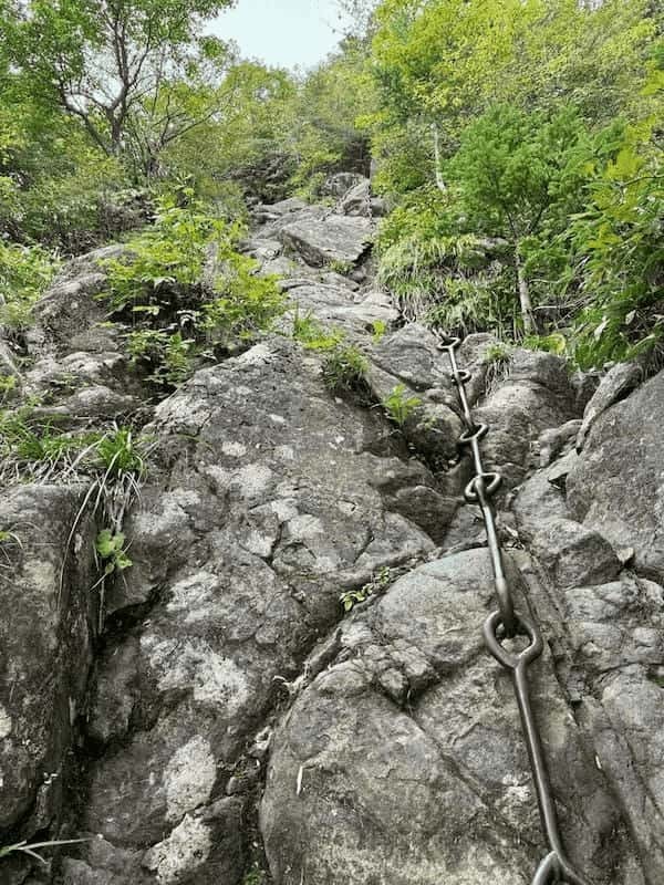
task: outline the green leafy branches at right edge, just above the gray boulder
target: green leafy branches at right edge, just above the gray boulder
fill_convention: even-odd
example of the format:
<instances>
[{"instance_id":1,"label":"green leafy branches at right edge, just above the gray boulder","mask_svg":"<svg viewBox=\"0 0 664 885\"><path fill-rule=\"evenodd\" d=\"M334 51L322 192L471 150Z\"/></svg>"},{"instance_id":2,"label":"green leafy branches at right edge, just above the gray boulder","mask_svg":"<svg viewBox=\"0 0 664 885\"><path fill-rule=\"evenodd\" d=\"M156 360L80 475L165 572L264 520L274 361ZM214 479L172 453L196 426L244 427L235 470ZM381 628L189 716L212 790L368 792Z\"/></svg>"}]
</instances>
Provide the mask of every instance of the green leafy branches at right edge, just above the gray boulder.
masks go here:
<instances>
[{"instance_id":1,"label":"green leafy branches at right edge, just above the gray boulder","mask_svg":"<svg viewBox=\"0 0 664 885\"><path fill-rule=\"evenodd\" d=\"M584 304L573 335L583 368L661 347L664 336L664 166L651 132L626 132L566 237Z\"/></svg>"}]
</instances>

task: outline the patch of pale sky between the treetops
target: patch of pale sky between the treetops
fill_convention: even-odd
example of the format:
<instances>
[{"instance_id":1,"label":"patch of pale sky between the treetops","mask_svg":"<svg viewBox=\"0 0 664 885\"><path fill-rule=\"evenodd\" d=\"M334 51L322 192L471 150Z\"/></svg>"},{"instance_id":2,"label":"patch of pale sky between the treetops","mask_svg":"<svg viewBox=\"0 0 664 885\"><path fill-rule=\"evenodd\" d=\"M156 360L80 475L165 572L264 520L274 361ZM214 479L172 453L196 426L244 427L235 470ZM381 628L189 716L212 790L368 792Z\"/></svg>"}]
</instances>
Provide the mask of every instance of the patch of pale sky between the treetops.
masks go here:
<instances>
[{"instance_id":1,"label":"patch of pale sky between the treetops","mask_svg":"<svg viewBox=\"0 0 664 885\"><path fill-rule=\"evenodd\" d=\"M245 58L279 67L311 67L340 40L335 0L238 0L212 31L235 40Z\"/></svg>"}]
</instances>

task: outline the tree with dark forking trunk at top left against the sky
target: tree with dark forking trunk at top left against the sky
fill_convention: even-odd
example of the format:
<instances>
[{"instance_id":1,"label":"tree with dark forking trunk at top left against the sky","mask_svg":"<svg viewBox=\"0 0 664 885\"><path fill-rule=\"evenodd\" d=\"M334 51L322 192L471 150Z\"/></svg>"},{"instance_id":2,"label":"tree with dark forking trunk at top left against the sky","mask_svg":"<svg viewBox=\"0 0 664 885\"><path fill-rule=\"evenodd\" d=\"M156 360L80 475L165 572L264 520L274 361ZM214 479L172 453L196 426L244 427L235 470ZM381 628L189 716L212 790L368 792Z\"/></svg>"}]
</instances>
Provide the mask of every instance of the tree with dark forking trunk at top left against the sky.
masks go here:
<instances>
[{"instance_id":1,"label":"tree with dark forking trunk at top left against the sky","mask_svg":"<svg viewBox=\"0 0 664 885\"><path fill-rule=\"evenodd\" d=\"M13 10L12 61L42 102L81 121L105 154L131 146L145 171L165 144L215 113L210 72L228 53L201 23L232 0L28 0Z\"/></svg>"}]
</instances>

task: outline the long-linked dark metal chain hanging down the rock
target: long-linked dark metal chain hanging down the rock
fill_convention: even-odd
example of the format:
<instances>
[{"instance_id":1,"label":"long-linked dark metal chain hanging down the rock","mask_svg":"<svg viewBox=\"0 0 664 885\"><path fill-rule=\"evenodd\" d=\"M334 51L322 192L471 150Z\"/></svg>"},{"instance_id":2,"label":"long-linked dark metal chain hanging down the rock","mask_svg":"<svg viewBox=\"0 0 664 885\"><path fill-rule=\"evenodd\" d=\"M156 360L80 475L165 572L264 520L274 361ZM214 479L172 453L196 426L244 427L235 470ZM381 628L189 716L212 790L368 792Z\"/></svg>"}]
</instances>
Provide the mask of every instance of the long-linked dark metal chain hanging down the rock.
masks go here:
<instances>
[{"instance_id":1,"label":"long-linked dark metal chain hanging down the rock","mask_svg":"<svg viewBox=\"0 0 664 885\"><path fill-rule=\"evenodd\" d=\"M456 354L461 340L444 332L436 331L435 334L438 339L438 350L447 351L449 356L452 379L459 397L461 419L466 428L459 442L470 448L475 464L475 477L466 486L464 497L468 503L479 504L481 508L494 569L498 611L489 615L485 622L484 638L489 652L509 671L513 683L542 830L550 848L540 863L531 885L554 885L554 883L590 885L588 879L575 872L564 852L541 735L530 702L528 668L540 657L544 644L539 626L516 611L511 587L505 573L502 548L496 529L496 513L492 504L492 498L502 482L502 477L498 472L485 469L479 446L489 433L489 427L486 424L476 425L473 418L466 393L466 385L473 376L466 369L459 368ZM509 652L504 643L506 639L517 636L527 637L529 644L521 652Z\"/></svg>"}]
</instances>

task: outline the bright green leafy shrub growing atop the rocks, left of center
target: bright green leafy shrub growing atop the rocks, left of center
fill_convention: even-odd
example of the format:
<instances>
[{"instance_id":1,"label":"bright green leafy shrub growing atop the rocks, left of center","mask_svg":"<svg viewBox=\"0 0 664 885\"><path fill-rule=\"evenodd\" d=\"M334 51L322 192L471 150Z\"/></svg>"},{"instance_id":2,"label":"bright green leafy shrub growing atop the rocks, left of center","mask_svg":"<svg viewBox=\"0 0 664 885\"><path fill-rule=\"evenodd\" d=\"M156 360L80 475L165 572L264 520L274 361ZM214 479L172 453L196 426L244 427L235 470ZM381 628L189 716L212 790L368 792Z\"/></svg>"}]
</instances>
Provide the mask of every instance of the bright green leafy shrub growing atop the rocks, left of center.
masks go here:
<instances>
[{"instance_id":1,"label":"bright green leafy shrub growing atop the rocks, left of center","mask_svg":"<svg viewBox=\"0 0 664 885\"><path fill-rule=\"evenodd\" d=\"M240 233L197 202L164 201L155 223L128 241L128 260L108 262L103 298L128 326L132 360L156 384L180 384L197 358L252 341L286 310L276 280L236 251Z\"/></svg>"}]
</instances>

